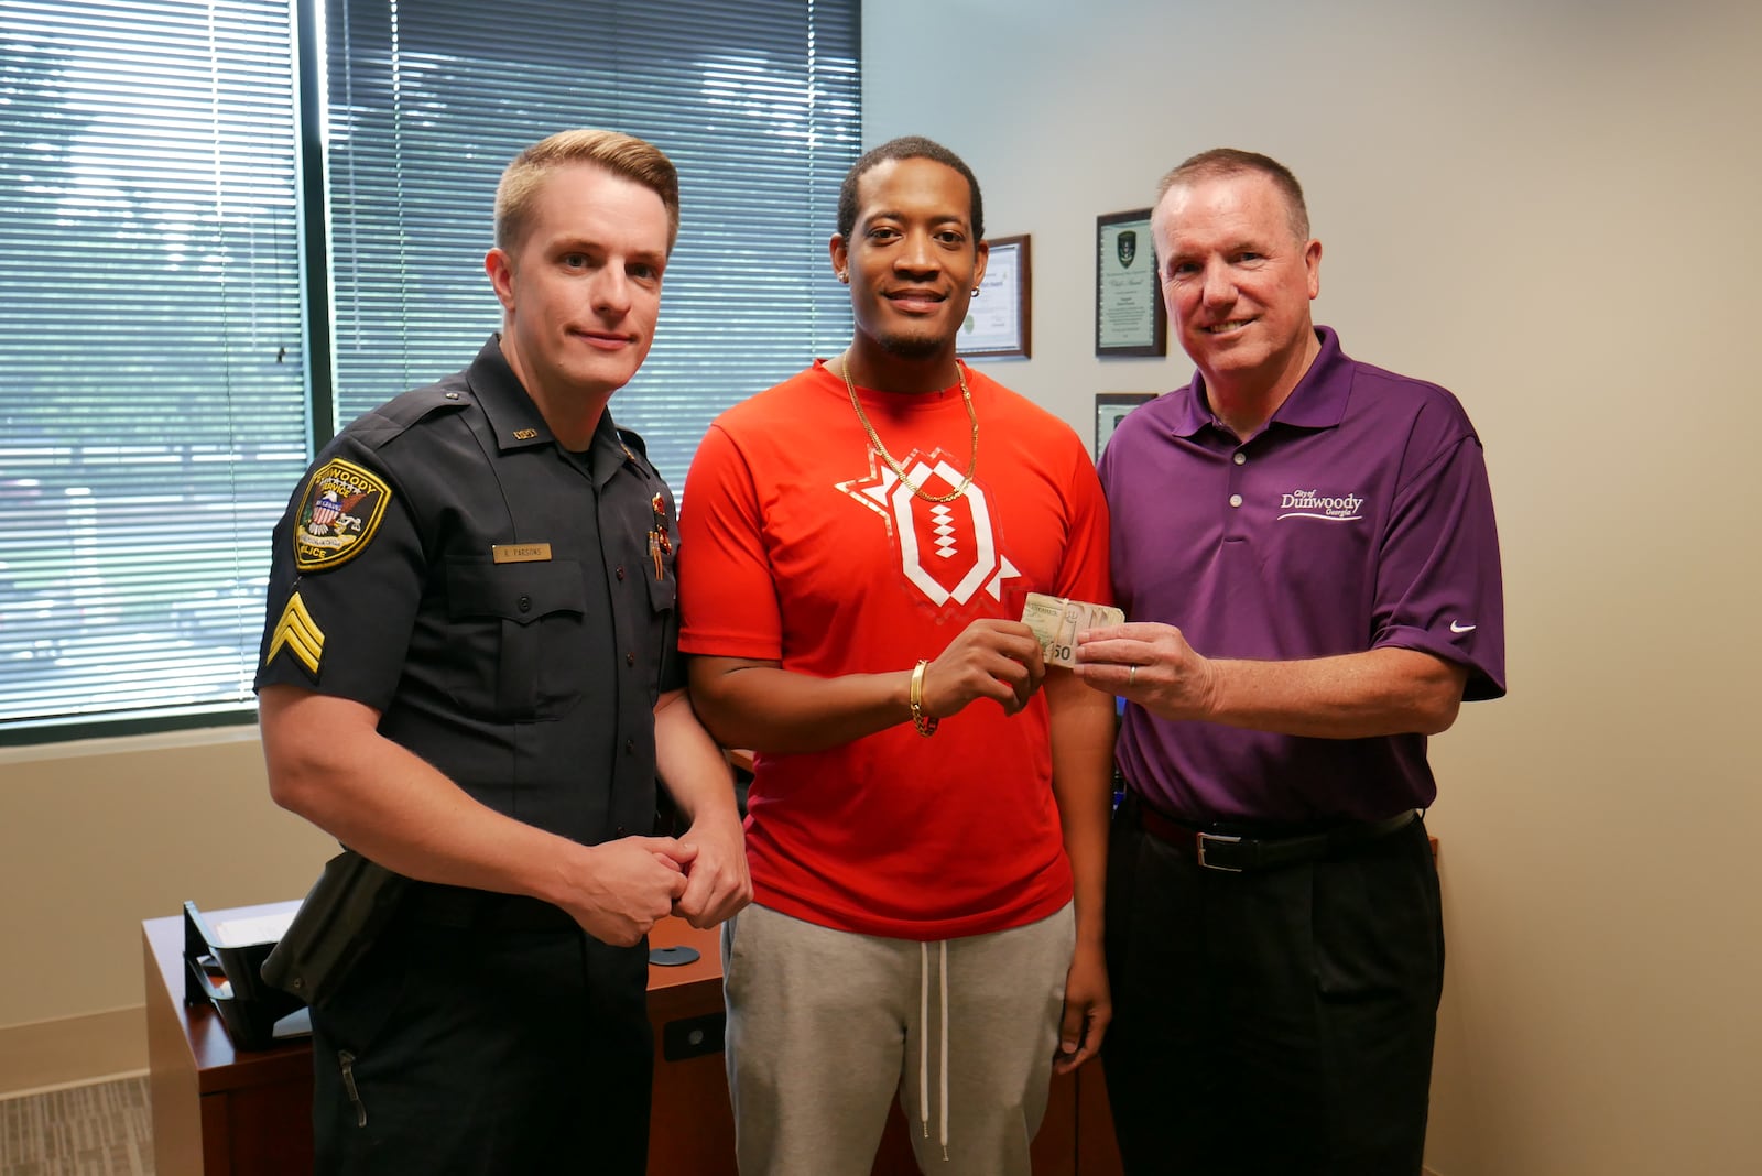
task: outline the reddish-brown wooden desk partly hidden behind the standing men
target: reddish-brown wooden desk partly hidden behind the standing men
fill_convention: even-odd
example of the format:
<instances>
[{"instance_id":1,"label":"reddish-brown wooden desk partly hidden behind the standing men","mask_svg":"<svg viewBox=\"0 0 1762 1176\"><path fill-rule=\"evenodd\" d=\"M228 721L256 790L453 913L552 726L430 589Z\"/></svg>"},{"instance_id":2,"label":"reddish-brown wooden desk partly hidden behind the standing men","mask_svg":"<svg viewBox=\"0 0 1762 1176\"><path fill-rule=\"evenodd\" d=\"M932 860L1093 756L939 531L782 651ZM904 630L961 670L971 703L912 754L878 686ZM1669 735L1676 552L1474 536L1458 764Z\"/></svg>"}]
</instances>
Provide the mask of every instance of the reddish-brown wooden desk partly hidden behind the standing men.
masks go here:
<instances>
[{"instance_id":1,"label":"reddish-brown wooden desk partly hidden behind the standing men","mask_svg":"<svg viewBox=\"0 0 1762 1176\"><path fill-rule=\"evenodd\" d=\"M298 903L204 912L210 924L270 915ZM153 1158L167 1176L307 1176L312 1172L312 1044L236 1051L206 1005L183 1003L183 919L141 924ZM694 963L648 967L655 1035L652 1176L735 1176L735 1120L722 1058L722 954L717 931L663 919L650 947L687 945ZM1098 1102L1099 1100L1099 1102ZM1082 1130L1078 1130L1082 1128ZM911 1176L906 1121L893 1106L874 1176ZM1054 1079L1034 1139L1036 1176L1117 1176L1099 1067Z\"/></svg>"}]
</instances>

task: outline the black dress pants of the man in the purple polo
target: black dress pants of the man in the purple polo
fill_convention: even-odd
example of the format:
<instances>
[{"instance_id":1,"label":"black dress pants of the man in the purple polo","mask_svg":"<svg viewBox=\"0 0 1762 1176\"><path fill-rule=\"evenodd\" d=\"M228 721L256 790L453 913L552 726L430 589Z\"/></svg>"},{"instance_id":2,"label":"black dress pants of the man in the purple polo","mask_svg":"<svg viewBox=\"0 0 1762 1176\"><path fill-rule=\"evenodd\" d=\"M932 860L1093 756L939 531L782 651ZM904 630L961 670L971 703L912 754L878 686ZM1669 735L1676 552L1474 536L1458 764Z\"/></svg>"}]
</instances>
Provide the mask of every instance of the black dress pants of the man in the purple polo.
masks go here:
<instances>
[{"instance_id":1,"label":"black dress pants of the man in the purple polo","mask_svg":"<svg viewBox=\"0 0 1762 1176\"><path fill-rule=\"evenodd\" d=\"M1422 822L1223 873L1114 822L1108 1100L1129 1176L1417 1176L1443 988Z\"/></svg>"}]
</instances>

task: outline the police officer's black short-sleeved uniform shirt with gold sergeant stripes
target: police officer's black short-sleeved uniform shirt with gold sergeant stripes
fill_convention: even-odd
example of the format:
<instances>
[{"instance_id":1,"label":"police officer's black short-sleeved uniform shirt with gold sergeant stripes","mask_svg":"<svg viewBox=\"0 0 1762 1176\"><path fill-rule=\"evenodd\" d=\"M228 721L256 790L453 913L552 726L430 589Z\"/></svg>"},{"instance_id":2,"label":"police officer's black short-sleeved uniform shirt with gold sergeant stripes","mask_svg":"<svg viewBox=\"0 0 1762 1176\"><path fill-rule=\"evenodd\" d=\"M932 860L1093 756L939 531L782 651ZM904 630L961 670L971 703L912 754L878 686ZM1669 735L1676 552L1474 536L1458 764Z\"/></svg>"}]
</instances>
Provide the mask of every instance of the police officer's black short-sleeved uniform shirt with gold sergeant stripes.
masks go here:
<instances>
[{"instance_id":1,"label":"police officer's black short-sleeved uniform shirt with gold sergeant stripes","mask_svg":"<svg viewBox=\"0 0 1762 1176\"><path fill-rule=\"evenodd\" d=\"M257 688L381 711L516 820L648 833L654 704L684 685L677 533L641 440L608 412L564 451L492 338L319 454L275 528Z\"/></svg>"}]
</instances>

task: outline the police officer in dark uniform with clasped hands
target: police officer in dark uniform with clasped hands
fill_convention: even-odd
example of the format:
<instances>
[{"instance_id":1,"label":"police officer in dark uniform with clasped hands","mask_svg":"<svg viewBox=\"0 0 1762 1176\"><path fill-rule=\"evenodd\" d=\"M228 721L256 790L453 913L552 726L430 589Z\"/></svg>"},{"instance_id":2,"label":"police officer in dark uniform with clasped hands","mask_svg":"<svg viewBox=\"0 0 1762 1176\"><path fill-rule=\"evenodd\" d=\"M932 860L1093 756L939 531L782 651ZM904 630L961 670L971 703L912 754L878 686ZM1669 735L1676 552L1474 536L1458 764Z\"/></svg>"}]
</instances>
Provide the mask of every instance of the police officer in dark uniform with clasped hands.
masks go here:
<instances>
[{"instance_id":1,"label":"police officer in dark uniform with clasped hands","mask_svg":"<svg viewBox=\"0 0 1762 1176\"><path fill-rule=\"evenodd\" d=\"M677 653L673 496L608 401L678 232L654 146L523 151L485 269L502 331L368 412L275 530L257 673L275 801L416 882L314 1009L326 1172L640 1172L648 928L751 898ZM685 833L647 836L655 776Z\"/></svg>"}]
</instances>

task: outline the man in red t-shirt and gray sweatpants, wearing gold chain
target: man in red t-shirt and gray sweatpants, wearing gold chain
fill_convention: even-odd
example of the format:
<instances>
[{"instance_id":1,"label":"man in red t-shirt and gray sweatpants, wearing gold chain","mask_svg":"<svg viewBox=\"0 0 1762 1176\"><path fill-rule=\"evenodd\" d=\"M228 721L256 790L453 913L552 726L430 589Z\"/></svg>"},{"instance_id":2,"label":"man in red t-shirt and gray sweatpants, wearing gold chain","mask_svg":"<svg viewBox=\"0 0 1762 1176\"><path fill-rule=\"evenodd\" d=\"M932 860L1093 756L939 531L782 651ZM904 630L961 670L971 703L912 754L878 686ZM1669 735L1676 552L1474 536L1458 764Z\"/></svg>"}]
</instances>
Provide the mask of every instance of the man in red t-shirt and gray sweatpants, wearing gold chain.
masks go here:
<instances>
[{"instance_id":1,"label":"man in red t-shirt and gray sweatpants, wearing gold chain","mask_svg":"<svg viewBox=\"0 0 1762 1176\"><path fill-rule=\"evenodd\" d=\"M687 479L692 699L758 752L722 942L747 1176L869 1171L895 1091L920 1165L1025 1174L1110 1014L1114 704L1018 620L1110 600L1107 507L1070 426L955 357L981 236L946 148L860 158L849 349L722 414Z\"/></svg>"}]
</instances>

